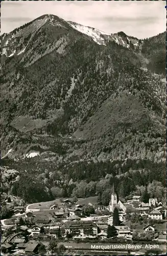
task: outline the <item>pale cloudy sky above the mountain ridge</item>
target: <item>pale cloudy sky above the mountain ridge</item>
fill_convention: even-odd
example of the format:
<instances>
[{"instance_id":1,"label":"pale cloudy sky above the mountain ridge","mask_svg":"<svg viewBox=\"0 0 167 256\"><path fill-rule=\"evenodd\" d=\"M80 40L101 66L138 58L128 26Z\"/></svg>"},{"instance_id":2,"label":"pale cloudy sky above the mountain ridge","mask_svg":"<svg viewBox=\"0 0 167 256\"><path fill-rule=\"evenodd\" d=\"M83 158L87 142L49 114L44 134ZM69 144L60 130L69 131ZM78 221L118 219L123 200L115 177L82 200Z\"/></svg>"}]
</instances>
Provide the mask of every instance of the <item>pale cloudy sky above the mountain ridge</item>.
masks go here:
<instances>
[{"instance_id":1,"label":"pale cloudy sky above the mountain ridge","mask_svg":"<svg viewBox=\"0 0 167 256\"><path fill-rule=\"evenodd\" d=\"M166 30L165 1L3 1L1 33L43 15L54 14L65 20L97 28L106 33L124 31L147 38Z\"/></svg>"}]
</instances>

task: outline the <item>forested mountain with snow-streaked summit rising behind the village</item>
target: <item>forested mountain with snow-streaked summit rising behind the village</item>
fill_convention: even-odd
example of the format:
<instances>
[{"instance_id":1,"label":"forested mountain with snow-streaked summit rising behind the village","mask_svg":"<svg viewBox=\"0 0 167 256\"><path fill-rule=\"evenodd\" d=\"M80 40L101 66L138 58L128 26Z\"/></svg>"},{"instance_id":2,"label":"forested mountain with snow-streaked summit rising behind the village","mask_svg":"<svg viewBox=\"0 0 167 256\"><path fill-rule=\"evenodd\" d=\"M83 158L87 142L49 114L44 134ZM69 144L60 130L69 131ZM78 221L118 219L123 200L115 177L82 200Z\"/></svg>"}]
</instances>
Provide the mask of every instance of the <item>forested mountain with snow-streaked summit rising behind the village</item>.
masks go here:
<instances>
[{"instance_id":1,"label":"forested mountain with snow-streaked summit rising behind the village","mask_svg":"<svg viewBox=\"0 0 167 256\"><path fill-rule=\"evenodd\" d=\"M94 196L113 176L122 197L154 180L164 186L164 38L105 34L51 14L3 34L2 166L20 176L8 194L21 197L22 180L33 179L43 198L81 197L89 183Z\"/></svg>"}]
</instances>

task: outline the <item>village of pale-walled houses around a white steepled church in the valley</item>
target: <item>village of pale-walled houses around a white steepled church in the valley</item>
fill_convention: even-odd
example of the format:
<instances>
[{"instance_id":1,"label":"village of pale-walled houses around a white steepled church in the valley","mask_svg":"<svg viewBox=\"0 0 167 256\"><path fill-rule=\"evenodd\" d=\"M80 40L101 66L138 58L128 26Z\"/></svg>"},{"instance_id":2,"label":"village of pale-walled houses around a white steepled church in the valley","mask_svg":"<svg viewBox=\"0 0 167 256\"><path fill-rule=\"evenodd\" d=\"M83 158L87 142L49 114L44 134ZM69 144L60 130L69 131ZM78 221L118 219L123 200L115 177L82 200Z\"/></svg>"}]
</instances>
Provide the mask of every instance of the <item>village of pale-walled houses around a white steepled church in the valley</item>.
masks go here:
<instances>
[{"instance_id":1,"label":"village of pale-walled houses around a white steepled church in the valley","mask_svg":"<svg viewBox=\"0 0 167 256\"><path fill-rule=\"evenodd\" d=\"M49 209L14 206L14 216L1 221L2 255L38 254L43 246L49 251L51 241L59 245L61 253L90 251L90 245L97 243L152 243L160 248L124 250L133 255L156 255L165 251L166 206L157 198L144 203L140 196L133 196L122 202L117 200L113 185L109 206L89 202L88 198L86 201L65 199L56 202Z\"/></svg>"}]
</instances>

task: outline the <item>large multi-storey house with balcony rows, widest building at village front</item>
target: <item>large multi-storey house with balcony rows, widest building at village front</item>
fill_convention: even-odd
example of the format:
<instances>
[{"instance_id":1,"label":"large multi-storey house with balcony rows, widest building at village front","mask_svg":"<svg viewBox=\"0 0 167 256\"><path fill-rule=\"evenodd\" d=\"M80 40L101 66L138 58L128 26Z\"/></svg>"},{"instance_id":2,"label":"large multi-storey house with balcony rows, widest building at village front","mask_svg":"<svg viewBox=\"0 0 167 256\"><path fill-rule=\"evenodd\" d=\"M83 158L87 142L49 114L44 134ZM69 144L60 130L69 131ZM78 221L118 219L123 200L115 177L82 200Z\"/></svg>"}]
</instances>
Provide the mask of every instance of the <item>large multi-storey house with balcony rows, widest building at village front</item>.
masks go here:
<instances>
[{"instance_id":1,"label":"large multi-storey house with balcony rows, widest building at village front","mask_svg":"<svg viewBox=\"0 0 167 256\"><path fill-rule=\"evenodd\" d=\"M65 226L65 233L73 235L73 238L96 238L98 226L92 221L71 222Z\"/></svg>"}]
</instances>

